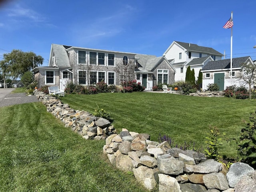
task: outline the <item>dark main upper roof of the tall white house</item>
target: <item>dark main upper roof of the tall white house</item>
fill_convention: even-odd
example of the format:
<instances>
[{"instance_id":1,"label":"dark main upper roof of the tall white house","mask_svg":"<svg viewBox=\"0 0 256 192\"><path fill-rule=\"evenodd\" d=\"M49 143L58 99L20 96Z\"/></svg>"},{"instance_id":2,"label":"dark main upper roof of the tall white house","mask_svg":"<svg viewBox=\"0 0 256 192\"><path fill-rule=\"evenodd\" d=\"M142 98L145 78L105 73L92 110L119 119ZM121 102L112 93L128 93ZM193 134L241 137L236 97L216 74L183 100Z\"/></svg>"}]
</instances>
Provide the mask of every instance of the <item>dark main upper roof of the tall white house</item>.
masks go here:
<instances>
[{"instance_id":1,"label":"dark main upper roof of the tall white house","mask_svg":"<svg viewBox=\"0 0 256 192\"><path fill-rule=\"evenodd\" d=\"M192 44L192 43L184 43L184 42L178 42L178 41L175 41L175 42L178 43L180 46L184 47L188 51L196 51L196 52L201 52L201 53L207 53L210 55L220 55L220 56L223 55L220 52L218 52L210 47L202 47L202 46L198 46L197 44Z\"/></svg>"}]
</instances>

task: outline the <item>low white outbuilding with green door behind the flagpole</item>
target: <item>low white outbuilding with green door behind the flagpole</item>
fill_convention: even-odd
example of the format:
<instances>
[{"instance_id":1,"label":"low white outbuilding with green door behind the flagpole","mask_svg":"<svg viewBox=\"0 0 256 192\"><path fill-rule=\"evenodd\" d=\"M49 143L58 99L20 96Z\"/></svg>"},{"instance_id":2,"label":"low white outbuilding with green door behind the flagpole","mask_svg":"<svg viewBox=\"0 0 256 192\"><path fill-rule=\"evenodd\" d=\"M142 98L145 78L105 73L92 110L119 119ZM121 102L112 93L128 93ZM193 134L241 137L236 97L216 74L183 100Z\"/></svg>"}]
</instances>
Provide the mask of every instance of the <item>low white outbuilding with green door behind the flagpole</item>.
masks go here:
<instances>
[{"instance_id":1,"label":"low white outbuilding with green door behind the flagpole","mask_svg":"<svg viewBox=\"0 0 256 192\"><path fill-rule=\"evenodd\" d=\"M230 73L230 59L210 61L203 68L202 89L206 90L208 84L218 84L220 90L225 90L227 86L237 85L245 86L239 78L241 74L241 65L244 63L254 64L250 56L232 58L232 74ZM231 78L232 75L232 78Z\"/></svg>"}]
</instances>

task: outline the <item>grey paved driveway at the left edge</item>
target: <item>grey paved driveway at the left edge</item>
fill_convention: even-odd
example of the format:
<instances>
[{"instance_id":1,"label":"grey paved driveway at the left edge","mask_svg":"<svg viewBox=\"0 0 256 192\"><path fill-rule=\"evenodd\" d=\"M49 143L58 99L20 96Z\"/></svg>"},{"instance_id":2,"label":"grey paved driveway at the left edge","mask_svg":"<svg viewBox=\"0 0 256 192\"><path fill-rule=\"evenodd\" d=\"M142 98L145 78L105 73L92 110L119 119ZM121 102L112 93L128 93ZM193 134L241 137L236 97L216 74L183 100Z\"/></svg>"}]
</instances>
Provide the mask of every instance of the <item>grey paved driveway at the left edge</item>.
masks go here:
<instances>
[{"instance_id":1,"label":"grey paved driveway at the left edge","mask_svg":"<svg viewBox=\"0 0 256 192\"><path fill-rule=\"evenodd\" d=\"M14 88L0 88L0 107L22 103L39 102L36 96L25 93L11 93Z\"/></svg>"}]
</instances>

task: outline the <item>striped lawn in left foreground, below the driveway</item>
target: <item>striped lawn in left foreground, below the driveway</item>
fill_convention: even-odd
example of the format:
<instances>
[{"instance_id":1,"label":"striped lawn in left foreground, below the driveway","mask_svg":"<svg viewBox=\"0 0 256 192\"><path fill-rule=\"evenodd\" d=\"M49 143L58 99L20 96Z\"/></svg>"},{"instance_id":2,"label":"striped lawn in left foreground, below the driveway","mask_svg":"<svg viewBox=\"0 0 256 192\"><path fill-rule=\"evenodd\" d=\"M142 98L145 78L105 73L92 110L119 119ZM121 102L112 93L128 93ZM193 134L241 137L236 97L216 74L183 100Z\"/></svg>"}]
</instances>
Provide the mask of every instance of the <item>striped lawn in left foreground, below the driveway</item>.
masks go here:
<instances>
[{"instance_id":1,"label":"striped lawn in left foreground, below the driveway","mask_svg":"<svg viewBox=\"0 0 256 192\"><path fill-rule=\"evenodd\" d=\"M141 192L134 176L84 140L42 103L0 108L0 192Z\"/></svg>"}]
</instances>

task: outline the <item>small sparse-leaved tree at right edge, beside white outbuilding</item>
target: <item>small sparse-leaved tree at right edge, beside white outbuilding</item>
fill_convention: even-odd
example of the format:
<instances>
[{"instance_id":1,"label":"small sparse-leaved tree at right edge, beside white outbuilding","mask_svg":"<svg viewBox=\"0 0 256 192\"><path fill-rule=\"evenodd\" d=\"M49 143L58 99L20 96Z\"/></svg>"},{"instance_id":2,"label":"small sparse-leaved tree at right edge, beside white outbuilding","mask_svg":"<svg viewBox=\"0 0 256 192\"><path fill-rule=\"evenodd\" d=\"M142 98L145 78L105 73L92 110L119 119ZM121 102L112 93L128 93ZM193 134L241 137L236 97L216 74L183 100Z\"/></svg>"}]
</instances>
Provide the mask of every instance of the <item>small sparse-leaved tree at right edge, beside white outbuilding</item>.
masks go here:
<instances>
[{"instance_id":1,"label":"small sparse-leaved tree at right edge, beside white outbuilding","mask_svg":"<svg viewBox=\"0 0 256 192\"><path fill-rule=\"evenodd\" d=\"M250 62L244 63L241 66L240 79L243 80L249 86L249 98L251 99L252 85L256 84L256 64Z\"/></svg>"}]
</instances>

